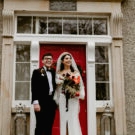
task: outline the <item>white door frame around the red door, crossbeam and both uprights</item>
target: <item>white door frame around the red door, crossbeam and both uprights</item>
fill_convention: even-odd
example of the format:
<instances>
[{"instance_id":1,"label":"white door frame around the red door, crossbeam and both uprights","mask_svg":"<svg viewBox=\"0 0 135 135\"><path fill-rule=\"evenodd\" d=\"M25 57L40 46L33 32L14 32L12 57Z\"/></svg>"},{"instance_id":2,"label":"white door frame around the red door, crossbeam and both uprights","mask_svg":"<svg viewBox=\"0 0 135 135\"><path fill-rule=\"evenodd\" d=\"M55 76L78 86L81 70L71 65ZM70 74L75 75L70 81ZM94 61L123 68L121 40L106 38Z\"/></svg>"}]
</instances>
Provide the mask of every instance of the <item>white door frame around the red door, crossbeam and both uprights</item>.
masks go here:
<instances>
[{"instance_id":1,"label":"white door frame around the red door, crossbeam and both uprights","mask_svg":"<svg viewBox=\"0 0 135 135\"><path fill-rule=\"evenodd\" d=\"M31 41L31 71L39 67L40 44L82 44L86 46L86 84L87 84L87 133L97 135L96 100L95 100L95 44L111 44L110 36L47 36L36 37ZM92 76L92 77L91 77ZM89 80L89 81L88 81ZM31 134L32 135L32 134Z\"/></svg>"}]
</instances>

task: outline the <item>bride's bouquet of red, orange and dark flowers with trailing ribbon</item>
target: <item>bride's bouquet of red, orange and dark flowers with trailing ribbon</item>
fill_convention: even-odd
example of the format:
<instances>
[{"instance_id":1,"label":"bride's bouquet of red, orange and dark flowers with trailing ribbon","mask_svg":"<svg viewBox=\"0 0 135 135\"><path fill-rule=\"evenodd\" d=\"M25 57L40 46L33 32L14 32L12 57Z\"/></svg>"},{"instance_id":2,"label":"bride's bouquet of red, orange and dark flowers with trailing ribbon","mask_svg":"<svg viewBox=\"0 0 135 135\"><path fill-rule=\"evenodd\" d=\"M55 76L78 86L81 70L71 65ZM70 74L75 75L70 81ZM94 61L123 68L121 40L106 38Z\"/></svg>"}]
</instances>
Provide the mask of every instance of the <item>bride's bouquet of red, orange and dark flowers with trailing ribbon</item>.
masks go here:
<instances>
[{"instance_id":1,"label":"bride's bouquet of red, orange and dark flowers with trailing ribbon","mask_svg":"<svg viewBox=\"0 0 135 135\"><path fill-rule=\"evenodd\" d=\"M66 97L66 108L68 111L68 99L80 95L80 76L71 76L67 73L63 74L63 77L62 93Z\"/></svg>"}]
</instances>

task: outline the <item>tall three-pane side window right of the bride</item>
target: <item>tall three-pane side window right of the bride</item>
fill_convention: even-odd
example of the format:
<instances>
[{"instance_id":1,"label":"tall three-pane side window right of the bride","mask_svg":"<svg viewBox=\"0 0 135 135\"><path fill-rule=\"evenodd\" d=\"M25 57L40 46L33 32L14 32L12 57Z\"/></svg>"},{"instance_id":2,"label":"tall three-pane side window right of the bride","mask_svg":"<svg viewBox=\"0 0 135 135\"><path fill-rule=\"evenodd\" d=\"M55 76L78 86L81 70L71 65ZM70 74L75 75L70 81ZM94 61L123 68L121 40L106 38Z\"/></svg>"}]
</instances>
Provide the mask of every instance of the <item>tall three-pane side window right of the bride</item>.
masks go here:
<instances>
[{"instance_id":1,"label":"tall three-pane side window right of the bride","mask_svg":"<svg viewBox=\"0 0 135 135\"><path fill-rule=\"evenodd\" d=\"M109 46L95 47L95 76L96 76L96 100L110 101L111 80L110 80L110 52Z\"/></svg>"}]
</instances>

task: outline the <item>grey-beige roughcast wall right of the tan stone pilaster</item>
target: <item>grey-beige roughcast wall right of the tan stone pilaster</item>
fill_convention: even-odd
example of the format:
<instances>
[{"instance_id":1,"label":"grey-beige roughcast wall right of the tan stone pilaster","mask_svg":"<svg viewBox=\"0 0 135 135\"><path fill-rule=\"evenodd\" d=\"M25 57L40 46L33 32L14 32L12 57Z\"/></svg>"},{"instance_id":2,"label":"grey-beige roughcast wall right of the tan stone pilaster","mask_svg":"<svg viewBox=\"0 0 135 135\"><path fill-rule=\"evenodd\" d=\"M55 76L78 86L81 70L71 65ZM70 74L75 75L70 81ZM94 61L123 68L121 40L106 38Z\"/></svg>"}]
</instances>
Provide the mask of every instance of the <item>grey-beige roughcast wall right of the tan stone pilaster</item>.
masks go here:
<instances>
[{"instance_id":1,"label":"grey-beige roughcast wall right of the tan stone pilaster","mask_svg":"<svg viewBox=\"0 0 135 135\"><path fill-rule=\"evenodd\" d=\"M135 134L135 0L122 3L127 135Z\"/></svg>"}]
</instances>

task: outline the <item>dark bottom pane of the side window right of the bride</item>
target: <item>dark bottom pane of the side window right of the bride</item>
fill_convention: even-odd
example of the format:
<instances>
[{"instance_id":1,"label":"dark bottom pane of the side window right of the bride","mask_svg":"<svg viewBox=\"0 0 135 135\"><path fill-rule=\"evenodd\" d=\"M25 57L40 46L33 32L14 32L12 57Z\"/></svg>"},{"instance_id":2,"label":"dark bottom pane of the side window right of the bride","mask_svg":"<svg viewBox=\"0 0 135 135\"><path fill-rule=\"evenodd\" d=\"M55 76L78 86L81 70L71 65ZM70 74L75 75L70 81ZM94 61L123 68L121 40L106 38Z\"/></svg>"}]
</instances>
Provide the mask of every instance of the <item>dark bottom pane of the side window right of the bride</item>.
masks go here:
<instances>
[{"instance_id":1,"label":"dark bottom pane of the side window right of the bride","mask_svg":"<svg viewBox=\"0 0 135 135\"><path fill-rule=\"evenodd\" d=\"M96 100L110 100L108 83L96 83Z\"/></svg>"}]
</instances>

